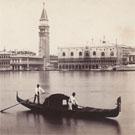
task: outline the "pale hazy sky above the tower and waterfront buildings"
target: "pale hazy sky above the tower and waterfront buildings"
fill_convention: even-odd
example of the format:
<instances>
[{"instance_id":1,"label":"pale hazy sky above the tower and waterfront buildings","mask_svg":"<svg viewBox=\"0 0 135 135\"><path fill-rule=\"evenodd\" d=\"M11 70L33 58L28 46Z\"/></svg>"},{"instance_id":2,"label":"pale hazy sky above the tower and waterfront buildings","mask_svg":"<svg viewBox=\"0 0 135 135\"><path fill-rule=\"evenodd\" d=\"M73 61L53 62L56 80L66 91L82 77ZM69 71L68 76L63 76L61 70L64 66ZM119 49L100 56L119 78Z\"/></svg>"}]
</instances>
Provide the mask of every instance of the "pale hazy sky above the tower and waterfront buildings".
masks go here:
<instances>
[{"instance_id":1,"label":"pale hazy sky above the tower and waterfront buildings","mask_svg":"<svg viewBox=\"0 0 135 135\"><path fill-rule=\"evenodd\" d=\"M135 0L0 0L0 50L38 51L44 1L51 54L58 46L85 46L104 35L135 46Z\"/></svg>"}]
</instances>

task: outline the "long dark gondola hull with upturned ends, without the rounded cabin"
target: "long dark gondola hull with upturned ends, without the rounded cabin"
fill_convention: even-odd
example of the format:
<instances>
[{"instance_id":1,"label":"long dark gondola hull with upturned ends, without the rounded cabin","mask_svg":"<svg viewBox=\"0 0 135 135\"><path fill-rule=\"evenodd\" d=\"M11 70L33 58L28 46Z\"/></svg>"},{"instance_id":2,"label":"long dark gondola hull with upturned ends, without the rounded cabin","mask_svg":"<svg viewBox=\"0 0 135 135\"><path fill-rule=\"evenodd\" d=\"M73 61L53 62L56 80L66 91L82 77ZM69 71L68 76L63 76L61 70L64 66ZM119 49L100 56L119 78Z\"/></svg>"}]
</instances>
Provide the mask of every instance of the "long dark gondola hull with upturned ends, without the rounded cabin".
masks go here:
<instances>
[{"instance_id":1,"label":"long dark gondola hull with upturned ends, without the rounded cabin","mask_svg":"<svg viewBox=\"0 0 135 135\"><path fill-rule=\"evenodd\" d=\"M37 104L29 100L21 99L18 94L17 101L33 112L40 112L45 115L67 116L67 117L116 117L119 115L121 107L121 98L117 99L117 106L114 109L98 109L92 107L78 107L75 110L69 110L68 106L53 107L48 104Z\"/></svg>"}]
</instances>

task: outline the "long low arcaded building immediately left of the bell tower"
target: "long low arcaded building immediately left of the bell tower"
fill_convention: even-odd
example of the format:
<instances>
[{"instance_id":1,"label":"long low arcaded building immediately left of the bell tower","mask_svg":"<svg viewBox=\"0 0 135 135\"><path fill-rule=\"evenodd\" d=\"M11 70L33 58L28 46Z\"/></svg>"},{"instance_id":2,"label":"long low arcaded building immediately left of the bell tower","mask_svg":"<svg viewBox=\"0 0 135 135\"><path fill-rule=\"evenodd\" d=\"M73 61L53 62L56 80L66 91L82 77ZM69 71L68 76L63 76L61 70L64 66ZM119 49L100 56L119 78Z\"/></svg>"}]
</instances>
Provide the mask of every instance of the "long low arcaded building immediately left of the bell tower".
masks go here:
<instances>
[{"instance_id":1,"label":"long low arcaded building immediately left of the bell tower","mask_svg":"<svg viewBox=\"0 0 135 135\"><path fill-rule=\"evenodd\" d=\"M10 67L13 71L42 70L43 58L31 51L10 51Z\"/></svg>"}]
</instances>

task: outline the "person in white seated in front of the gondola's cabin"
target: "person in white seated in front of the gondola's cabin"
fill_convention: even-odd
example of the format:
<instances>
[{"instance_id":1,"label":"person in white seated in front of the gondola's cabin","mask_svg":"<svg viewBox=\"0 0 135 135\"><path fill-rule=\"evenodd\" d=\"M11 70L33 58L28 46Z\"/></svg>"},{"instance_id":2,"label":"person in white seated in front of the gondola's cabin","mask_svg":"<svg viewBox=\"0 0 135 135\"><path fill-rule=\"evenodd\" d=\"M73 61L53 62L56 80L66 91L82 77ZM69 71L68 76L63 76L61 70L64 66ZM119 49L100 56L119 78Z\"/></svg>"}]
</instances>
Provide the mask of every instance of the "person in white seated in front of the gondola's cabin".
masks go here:
<instances>
[{"instance_id":1,"label":"person in white seated in front of the gondola's cabin","mask_svg":"<svg viewBox=\"0 0 135 135\"><path fill-rule=\"evenodd\" d=\"M78 108L77 100L75 98L75 92L72 93L72 95L69 98L69 110L76 110Z\"/></svg>"}]
</instances>

